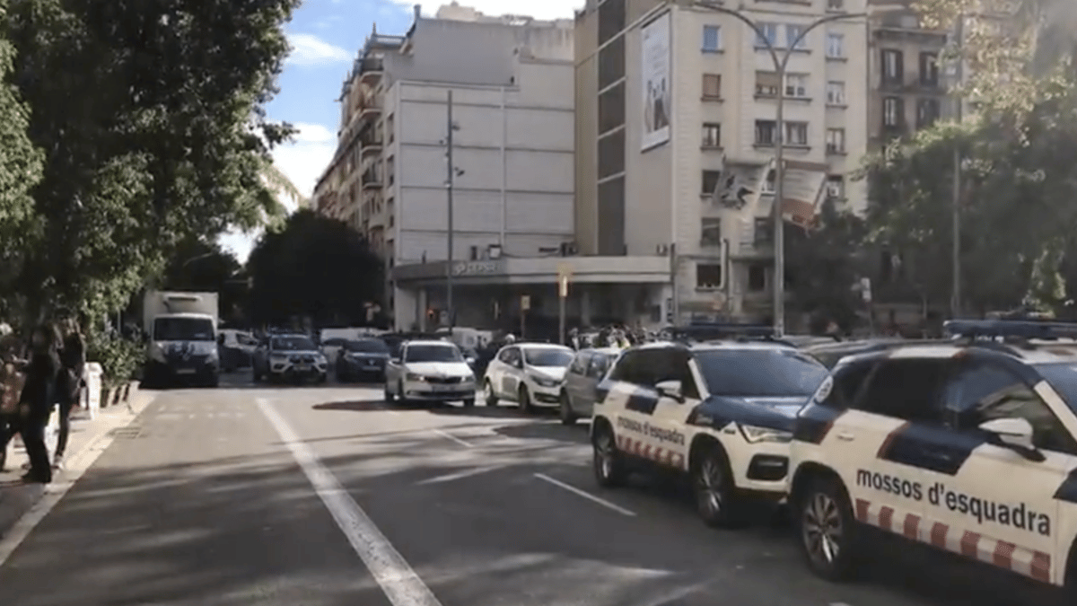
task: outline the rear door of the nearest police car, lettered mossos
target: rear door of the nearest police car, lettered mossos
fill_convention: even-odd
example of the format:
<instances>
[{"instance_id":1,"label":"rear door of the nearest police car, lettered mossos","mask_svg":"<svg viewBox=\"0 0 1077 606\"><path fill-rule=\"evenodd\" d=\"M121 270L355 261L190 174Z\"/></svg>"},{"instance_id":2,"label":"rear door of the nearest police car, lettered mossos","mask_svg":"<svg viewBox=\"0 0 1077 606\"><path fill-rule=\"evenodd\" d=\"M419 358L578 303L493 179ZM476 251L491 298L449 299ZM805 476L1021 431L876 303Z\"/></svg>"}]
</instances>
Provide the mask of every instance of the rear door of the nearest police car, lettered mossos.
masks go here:
<instances>
[{"instance_id":1,"label":"rear door of the nearest police car, lettered mossos","mask_svg":"<svg viewBox=\"0 0 1077 606\"><path fill-rule=\"evenodd\" d=\"M927 470L952 471L965 447L945 439L949 363L949 358L880 361L827 433L822 450L845 480L861 522L921 538Z\"/></svg>"}]
</instances>

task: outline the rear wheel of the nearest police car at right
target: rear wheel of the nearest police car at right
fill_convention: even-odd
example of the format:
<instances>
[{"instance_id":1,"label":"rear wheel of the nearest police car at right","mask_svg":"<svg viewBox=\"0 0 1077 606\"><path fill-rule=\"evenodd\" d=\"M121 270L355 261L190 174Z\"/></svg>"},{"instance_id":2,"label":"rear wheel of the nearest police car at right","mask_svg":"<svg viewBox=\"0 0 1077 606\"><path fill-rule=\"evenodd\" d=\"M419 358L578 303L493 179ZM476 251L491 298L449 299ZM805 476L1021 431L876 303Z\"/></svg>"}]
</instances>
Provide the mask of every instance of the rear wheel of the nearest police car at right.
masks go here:
<instances>
[{"instance_id":1,"label":"rear wheel of the nearest police car at right","mask_svg":"<svg viewBox=\"0 0 1077 606\"><path fill-rule=\"evenodd\" d=\"M797 498L800 549L808 567L829 581L853 577L859 539L845 488L831 478L817 478Z\"/></svg>"}]
</instances>

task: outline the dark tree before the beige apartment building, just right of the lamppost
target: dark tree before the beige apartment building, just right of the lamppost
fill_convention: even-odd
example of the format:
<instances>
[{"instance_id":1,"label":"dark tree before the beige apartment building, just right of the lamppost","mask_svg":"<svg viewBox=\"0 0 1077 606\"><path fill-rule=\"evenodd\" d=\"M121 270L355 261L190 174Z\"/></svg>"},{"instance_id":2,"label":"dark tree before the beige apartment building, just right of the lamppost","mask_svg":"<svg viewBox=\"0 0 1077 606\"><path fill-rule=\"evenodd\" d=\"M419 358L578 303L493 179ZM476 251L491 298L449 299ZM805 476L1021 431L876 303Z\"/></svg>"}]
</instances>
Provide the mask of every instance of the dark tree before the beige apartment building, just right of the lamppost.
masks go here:
<instances>
[{"instance_id":1,"label":"dark tree before the beige apartment building, just right of the lamppost","mask_svg":"<svg viewBox=\"0 0 1077 606\"><path fill-rule=\"evenodd\" d=\"M848 329L863 306L852 289L864 275L863 262L851 251L864 240L867 228L855 215L837 210L829 199L823 203L819 221L813 231L785 229L789 292L803 312Z\"/></svg>"}]
</instances>

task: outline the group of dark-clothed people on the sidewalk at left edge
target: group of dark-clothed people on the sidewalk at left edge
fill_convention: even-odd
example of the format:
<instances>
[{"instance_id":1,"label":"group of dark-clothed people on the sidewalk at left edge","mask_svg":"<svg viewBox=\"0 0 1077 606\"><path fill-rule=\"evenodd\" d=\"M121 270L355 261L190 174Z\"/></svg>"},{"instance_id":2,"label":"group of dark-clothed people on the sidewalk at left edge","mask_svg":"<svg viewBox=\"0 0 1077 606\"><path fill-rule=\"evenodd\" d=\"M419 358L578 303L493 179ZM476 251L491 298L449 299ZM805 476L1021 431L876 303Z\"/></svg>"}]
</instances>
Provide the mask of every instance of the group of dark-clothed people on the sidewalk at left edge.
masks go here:
<instances>
[{"instance_id":1,"label":"group of dark-clothed people on the sidewalk at left edge","mask_svg":"<svg viewBox=\"0 0 1077 606\"><path fill-rule=\"evenodd\" d=\"M24 482L47 484L53 471L62 468L71 431L71 411L81 399L86 343L79 323L67 320L62 329L42 323L24 342L18 335L0 334L0 470L6 465L8 445L23 438L29 457ZM59 409L59 431L53 462L48 460L45 431L53 410Z\"/></svg>"}]
</instances>

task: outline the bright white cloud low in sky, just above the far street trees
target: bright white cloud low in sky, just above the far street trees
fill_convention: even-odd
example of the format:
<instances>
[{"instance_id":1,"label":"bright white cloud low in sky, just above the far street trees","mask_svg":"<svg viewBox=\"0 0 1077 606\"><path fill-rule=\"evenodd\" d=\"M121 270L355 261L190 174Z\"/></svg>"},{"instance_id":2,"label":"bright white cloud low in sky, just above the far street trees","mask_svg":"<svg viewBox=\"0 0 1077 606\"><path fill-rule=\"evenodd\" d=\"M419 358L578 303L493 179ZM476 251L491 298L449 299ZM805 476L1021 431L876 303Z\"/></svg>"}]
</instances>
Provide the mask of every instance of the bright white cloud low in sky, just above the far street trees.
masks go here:
<instances>
[{"instance_id":1,"label":"bright white cloud low in sky, just above the far street trees","mask_svg":"<svg viewBox=\"0 0 1077 606\"><path fill-rule=\"evenodd\" d=\"M336 151L336 134L321 124L298 123L293 126L299 130L295 135L294 142L274 148L274 163L299 188L303 195L310 197L314 193L318 178L333 160L333 153ZM295 210L295 201L282 197L281 202L289 210ZM243 262L254 248L258 235L258 233L229 232L221 236L220 243Z\"/></svg>"}]
</instances>

